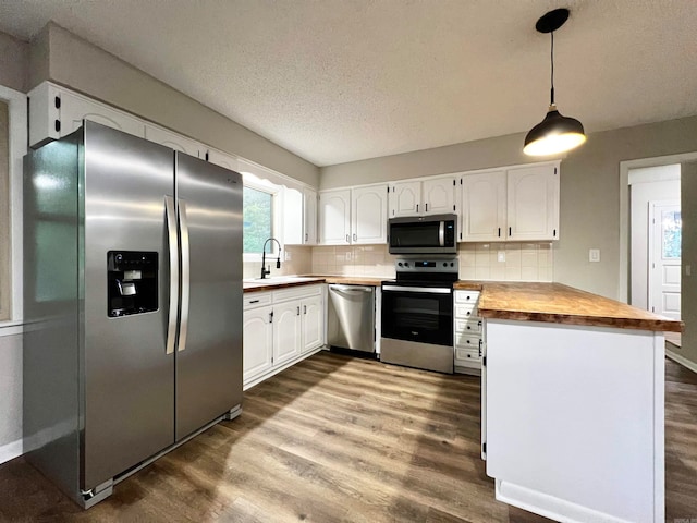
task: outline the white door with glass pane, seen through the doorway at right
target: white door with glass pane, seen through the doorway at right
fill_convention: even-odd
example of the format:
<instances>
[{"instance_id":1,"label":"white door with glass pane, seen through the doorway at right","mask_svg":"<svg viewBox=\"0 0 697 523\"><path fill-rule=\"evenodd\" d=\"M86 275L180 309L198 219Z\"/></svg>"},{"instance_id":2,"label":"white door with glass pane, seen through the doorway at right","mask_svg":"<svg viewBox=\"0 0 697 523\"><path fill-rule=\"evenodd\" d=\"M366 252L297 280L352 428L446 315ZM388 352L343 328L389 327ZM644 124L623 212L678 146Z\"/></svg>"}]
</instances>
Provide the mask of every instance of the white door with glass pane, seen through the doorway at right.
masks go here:
<instances>
[{"instance_id":1,"label":"white door with glass pane, seen through the doorway at right","mask_svg":"<svg viewBox=\"0 0 697 523\"><path fill-rule=\"evenodd\" d=\"M651 202L649 305L669 318L681 316L682 217L678 202Z\"/></svg>"}]
</instances>

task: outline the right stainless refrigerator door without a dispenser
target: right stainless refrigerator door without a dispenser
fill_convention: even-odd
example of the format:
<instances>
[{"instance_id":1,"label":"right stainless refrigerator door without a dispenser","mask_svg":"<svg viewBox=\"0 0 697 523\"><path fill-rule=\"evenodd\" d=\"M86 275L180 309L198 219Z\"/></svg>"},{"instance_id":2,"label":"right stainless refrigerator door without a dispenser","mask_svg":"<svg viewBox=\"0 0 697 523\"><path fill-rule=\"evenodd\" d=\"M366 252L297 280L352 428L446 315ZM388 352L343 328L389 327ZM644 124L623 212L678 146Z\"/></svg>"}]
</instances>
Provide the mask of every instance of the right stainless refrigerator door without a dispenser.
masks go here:
<instances>
[{"instance_id":1,"label":"right stainless refrigerator door without a dispenser","mask_svg":"<svg viewBox=\"0 0 697 523\"><path fill-rule=\"evenodd\" d=\"M176 439L242 403L242 177L176 153Z\"/></svg>"}]
</instances>

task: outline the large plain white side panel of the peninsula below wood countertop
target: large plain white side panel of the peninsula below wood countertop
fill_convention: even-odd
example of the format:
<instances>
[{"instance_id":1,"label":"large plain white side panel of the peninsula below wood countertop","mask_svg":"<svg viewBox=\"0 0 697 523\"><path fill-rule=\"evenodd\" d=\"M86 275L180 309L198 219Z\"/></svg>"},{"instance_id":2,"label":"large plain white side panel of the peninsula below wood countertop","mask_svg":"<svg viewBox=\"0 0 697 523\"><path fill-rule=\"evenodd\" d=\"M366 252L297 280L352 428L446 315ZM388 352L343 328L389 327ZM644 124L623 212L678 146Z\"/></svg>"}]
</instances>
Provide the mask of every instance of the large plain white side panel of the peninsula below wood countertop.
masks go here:
<instances>
[{"instance_id":1,"label":"large plain white side panel of the peninsula below wood countertop","mask_svg":"<svg viewBox=\"0 0 697 523\"><path fill-rule=\"evenodd\" d=\"M487 474L623 521L653 521L662 499L655 453L663 452L653 335L503 320L486 330Z\"/></svg>"}]
</instances>

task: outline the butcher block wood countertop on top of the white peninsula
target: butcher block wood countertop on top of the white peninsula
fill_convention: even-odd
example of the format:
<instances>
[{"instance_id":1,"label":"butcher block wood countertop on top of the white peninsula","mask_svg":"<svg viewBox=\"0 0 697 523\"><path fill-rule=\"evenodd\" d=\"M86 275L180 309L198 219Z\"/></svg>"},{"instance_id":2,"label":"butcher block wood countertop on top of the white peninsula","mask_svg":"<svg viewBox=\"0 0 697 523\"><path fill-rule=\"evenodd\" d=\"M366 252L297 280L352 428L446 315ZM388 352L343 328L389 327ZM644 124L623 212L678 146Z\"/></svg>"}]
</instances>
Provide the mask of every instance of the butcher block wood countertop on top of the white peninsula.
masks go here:
<instances>
[{"instance_id":1,"label":"butcher block wood countertop on top of the white peninsula","mask_svg":"<svg viewBox=\"0 0 697 523\"><path fill-rule=\"evenodd\" d=\"M484 318L670 332L682 330L682 321L561 283L460 281L455 289L477 290L477 284L482 290L478 309Z\"/></svg>"}]
</instances>

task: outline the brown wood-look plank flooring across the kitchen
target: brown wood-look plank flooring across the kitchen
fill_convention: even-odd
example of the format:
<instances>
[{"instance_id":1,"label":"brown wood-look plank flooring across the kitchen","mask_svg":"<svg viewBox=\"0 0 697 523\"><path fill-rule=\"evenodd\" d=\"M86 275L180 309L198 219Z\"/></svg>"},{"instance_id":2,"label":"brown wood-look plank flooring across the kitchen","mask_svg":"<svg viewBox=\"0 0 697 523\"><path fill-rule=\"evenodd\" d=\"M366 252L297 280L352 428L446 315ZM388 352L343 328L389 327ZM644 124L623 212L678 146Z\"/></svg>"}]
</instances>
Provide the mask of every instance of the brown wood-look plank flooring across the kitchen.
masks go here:
<instances>
[{"instance_id":1,"label":"brown wood-look plank flooring across the kitchen","mask_svg":"<svg viewBox=\"0 0 697 523\"><path fill-rule=\"evenodd\" d=\"M243 414L88 511L17 458L0 521L550 521L498 502L479 458L479 379L321 352L245 393ZM697 376L667 362L667 521L697 519ZM693 520L695 521L695 520Z\"/></svg>"}]
</instances>

